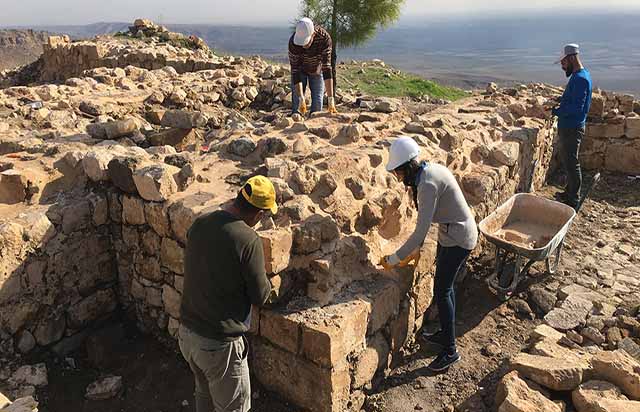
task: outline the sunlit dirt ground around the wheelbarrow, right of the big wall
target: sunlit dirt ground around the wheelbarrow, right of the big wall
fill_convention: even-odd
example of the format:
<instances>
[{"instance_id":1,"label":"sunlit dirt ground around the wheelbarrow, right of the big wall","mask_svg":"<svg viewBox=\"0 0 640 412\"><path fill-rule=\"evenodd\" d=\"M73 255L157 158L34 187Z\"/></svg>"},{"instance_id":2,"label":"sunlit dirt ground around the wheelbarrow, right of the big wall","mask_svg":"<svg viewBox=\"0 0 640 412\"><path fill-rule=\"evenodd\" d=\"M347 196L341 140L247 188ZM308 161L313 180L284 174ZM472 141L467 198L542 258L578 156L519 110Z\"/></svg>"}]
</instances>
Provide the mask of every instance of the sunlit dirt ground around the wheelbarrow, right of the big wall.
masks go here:
<instances>
[{"instance_id":1,"label":"sunlit dirt ground around the wheelbarrow, right of the big wall","mask_svg":"<svg viewBox=\"0 0 640 412\"><path fill-rule=\"evenodd\" d=\"M585 182L589 181L590 176L585 176ZM547 186L537 194L553 199L559 191L559 187ZM508 359L526 346L531 330L542 323L535 308L529 312L531 306L523 305L527 290L536 283L557 282L559 277L563 281L579 279L585 265L598 262L599 248L635 248L638 253L634 233L640 232L639 206L640 183L626 176L603 176L565 238L556 274L547 275L544 263L536 263L530 270L532 276L506 303L500 302L484 282L493 270L491 251L471 262L469 274L457 286L456 335L461 362L446 373L429 372L426 366L436 351L418 338L412 353L375 393L369 394L366 411L497 411L496 386L507 372ZM433 330L437 325L431 322L426 327Z\"/></svg>"}]
</instances>

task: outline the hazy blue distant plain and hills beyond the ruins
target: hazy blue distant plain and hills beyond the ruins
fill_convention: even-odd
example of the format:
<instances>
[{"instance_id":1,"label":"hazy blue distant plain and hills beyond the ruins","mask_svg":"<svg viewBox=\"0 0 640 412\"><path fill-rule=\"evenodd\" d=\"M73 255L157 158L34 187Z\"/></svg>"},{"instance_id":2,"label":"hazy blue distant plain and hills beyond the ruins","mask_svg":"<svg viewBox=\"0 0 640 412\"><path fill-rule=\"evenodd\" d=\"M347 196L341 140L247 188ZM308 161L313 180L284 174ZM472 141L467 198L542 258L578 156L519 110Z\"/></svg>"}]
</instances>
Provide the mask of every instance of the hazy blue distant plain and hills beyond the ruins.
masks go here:
<instances>
[{"instance_id":1,"label":"hazy blue distant plain and hills beyond the ruins","mask_svg":"<svg viewBox=\"0 0 640 412\"><path fill-rule=\"evenodd\" d=\"M407 21L405 19L405 21ZM565 43L580 43L596 87L640 95L640 14L522 13L498 17L414 18L379 32L359 48L342 49L339 60L382 59L405 71L464 88L566 81L552 62ZM124 30L130 23L45 26L73 38ZM290 28L167 24L171 31L195 34L218 53L260 55L287 61ZM597 29L595 29L597 28Z\"/></svg>"}]
</instances>

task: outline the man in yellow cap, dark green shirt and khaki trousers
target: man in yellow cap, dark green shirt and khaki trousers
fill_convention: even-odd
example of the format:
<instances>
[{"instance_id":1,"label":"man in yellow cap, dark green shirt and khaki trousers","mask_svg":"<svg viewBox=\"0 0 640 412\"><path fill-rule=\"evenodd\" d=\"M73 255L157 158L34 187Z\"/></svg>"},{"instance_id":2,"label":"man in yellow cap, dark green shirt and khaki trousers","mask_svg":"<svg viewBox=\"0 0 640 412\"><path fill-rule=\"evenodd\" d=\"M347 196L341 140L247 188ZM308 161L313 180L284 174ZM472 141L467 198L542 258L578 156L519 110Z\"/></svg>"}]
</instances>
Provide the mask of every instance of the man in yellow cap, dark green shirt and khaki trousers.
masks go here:
<instances>
[{"instance_id":1,"label":"man in yellow cap, dark green shirt and khaki trousers","mask_svg":"<svg viewBox=\"0 0 640 412\"><path fill-rule=\"evenodd\" d=\"M178 342L195 377L196 412L251 409L244 334L251 305L264 305L271 291L253 227L277 212L273 184L255 176L230 205L189 229Z\"/></svg>"}]
</instances>

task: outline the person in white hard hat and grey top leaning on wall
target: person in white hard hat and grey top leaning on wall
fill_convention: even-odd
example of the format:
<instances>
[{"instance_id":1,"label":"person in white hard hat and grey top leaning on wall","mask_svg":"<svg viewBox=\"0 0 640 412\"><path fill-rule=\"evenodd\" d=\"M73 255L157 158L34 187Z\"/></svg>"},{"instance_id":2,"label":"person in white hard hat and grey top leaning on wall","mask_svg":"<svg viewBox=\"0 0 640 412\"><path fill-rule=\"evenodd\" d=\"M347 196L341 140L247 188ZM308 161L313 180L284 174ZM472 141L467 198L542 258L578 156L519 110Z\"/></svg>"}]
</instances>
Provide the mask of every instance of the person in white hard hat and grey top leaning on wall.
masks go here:
<instances>
[{"instance_id":1,"label":"person in white hard hat and grey top leaning on wall","mask_svg":"<svg viewBox=\"0 0 640 412\"><path fill-rule=\"evenodd\" d=\"M380 264L385 269L407 264L418 255L432 223L439 224L436 274L433 286L438 306L440 330L425 335L427 341L442 347L428 366L442 371L460 360L455 343L456 275L465 267L467 257L476 246L478 230L462 190L445 166L420 162L420 147L410 137L399 137L389 149L387 171L411 188L418 209L416 228L409 239L393 255Z\"/></svg>"}]
</instances>

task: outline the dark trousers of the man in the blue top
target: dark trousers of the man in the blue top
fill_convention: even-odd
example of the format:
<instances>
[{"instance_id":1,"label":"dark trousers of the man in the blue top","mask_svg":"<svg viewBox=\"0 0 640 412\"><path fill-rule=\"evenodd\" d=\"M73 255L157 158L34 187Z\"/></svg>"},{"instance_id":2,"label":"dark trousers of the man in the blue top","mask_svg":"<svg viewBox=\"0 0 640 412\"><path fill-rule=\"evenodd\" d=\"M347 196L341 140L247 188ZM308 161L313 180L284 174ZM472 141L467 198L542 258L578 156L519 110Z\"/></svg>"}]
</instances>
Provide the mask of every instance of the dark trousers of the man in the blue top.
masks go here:
<instances>
[{"instance_id":1,"label":"dark trousers of the man in the blue top","mask_svg":"<svg viewBox=\"0 0 640 412\"><path fill-rule=\"evenodd\" d=\"M567 203L576 206L580 200L580 186L582 186L582 170L580 169L580 142L584 137L584 126L575 129L558 129L560 142L560 160L567 172Z\"/></svg>"}]
</instances>

